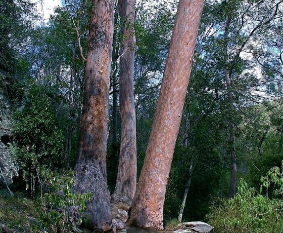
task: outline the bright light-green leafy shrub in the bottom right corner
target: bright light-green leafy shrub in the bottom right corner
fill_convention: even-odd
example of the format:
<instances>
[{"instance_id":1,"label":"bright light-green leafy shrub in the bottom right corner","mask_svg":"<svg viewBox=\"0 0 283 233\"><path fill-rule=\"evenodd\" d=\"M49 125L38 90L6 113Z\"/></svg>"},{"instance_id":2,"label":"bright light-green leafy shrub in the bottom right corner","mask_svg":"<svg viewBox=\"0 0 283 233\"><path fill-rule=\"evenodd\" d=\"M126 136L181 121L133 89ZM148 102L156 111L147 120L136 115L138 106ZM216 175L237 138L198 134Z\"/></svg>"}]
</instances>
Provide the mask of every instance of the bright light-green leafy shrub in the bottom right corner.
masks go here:
<instances>
[{"instance_id":1,"label":"bright light-green leafy shrub in the bottom right corner","mask_svg":"<svg viewBox=\"0 0 283 233\"><path fill-rule=\"evenodd\" d=\"M264 192L264 193L263 193ZM223 200L207 215L216 232L283 232L283 161L261 178L257 191L241 179L234 199Z\"/></svg>"}]
</instances>

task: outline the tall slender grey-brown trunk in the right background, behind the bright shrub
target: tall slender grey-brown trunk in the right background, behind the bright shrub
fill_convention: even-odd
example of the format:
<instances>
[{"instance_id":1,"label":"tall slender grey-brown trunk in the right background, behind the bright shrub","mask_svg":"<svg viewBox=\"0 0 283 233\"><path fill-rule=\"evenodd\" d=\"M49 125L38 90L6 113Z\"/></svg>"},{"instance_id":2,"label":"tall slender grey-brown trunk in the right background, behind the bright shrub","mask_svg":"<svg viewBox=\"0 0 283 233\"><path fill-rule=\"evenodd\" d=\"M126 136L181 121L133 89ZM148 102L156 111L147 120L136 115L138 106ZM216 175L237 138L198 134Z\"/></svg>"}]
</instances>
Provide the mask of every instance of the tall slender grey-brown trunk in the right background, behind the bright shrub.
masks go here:
<instances>
[{"instance_id":1,"label":"tall slender grey-brown trunk in the right background, behind the bright shrub","mask_svg":"<svg viewBox=\"0 0 283 233\"><path fill-rule=\"evenodd\" d=\"M231 77L230 72L228 70L228 32L231 23L231 17L228 16L225 25L224 31L224 74L225 74L225 81L226 87L228 92L228 101L230 105L230 111L233 111L233 92L231 91ZM230 188L229 188L229 198L233 198L235 195L236 189L236 178L237 178L237 160L236 160L236 153L235 153L235 126L234 126L234 119L231 117L229 120L229 140L228 140L228 147L227 153L230 154L231 157L231 177L230 177Z\"/></svg>"}]
</instances>

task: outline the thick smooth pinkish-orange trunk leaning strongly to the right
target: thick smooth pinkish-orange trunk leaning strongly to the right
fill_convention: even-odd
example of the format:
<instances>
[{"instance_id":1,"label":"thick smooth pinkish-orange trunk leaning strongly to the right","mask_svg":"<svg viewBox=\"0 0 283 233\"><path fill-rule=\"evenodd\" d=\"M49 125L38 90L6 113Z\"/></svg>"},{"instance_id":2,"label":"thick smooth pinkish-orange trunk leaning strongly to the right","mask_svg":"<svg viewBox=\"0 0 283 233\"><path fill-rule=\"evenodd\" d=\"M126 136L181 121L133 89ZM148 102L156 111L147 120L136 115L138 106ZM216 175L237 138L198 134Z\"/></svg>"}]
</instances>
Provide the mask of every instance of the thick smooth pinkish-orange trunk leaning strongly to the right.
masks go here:
<instances>
[{"instance_id":1,"label":"thick smooth pinkish-orange trunk leaning strongly to the right","mask_svg":"<svg viewBox=\"0 0 283 233\"><path fill-rule=\"evenodd\" d=\"M163 229L163 204L204 0L180 0L143 169L128 223Z\"/></svg>"}]
</instances>

